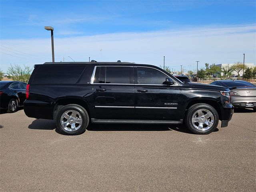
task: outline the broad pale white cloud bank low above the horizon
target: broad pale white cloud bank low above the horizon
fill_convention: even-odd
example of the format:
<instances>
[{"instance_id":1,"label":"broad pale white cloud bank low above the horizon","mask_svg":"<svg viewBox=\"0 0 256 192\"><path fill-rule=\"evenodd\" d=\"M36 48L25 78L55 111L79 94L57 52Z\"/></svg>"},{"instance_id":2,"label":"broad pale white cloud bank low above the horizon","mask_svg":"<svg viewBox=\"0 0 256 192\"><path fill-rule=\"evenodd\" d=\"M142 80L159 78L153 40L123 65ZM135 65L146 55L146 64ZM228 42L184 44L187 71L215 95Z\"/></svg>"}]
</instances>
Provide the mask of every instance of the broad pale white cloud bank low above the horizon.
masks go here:
<instances>
[{"instance_id":1,"label":"broad pale white cloud bank low above the horizon","mask_svg":"<svg viewBox=\"0 0 256 192\"><path fill-rule=\"evenodd\" d=\"M246 54L246 62L255 63L255 31L255 25L207 26L175 31L55 38L55 61L63 60L63 56L65 61L72 61L68 56L75 61L88 61L89 56L100 61L102 48L102 61L121 60L159 66L163 64L163 56L165 56L166 65L176 69L180 69L180 65L187 69L188 65L192 65L192 68L196 67L196 60L200 61L200 66L204 66L205 62L219 64L242 61L243 53ZM33 59L37 60L36 62L1 53L1 69L4 71L10 63L33 66L51 61L50 38L1 40L1 45L38 57ZM16 55L1 49L0 51ZM29 56L26 54L16 56L32 59L26 57Z\"/></svg>"}]
</instances>

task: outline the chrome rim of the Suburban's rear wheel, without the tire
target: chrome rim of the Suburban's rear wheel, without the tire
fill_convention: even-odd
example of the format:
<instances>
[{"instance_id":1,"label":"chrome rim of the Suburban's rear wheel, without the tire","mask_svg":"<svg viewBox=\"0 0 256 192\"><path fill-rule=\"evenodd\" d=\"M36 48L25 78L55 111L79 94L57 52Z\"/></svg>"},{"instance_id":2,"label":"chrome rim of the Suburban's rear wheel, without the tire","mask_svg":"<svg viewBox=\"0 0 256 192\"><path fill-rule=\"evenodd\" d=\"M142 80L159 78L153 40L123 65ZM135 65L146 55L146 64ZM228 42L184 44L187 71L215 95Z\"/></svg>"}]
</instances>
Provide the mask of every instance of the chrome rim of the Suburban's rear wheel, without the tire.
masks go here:
<instances>
[{"instance_id":1,"label":"chrome rim of the Suburban's rear wheel, without the tire","mask_svg":"<svg viewBox=\"0 0 256 192\"><path fill-rule=\"evenodd\" d=\"M75 110L65 111L60 118L62 128L71 132L78 130L81 127L82 122L81 114Z\"/></svg>"}]
</instances>

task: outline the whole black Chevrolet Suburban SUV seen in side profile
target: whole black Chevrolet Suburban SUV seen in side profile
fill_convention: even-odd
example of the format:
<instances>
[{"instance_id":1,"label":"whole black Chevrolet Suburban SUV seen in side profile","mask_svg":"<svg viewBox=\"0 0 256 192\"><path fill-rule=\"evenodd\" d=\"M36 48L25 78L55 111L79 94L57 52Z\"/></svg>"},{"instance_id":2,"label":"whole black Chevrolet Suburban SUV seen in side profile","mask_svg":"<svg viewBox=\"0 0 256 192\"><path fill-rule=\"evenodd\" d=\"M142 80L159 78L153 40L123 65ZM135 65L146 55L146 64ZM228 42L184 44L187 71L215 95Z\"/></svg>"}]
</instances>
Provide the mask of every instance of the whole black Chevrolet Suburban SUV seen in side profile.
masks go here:
<instances>
[{"instance_id":1,"label":"whole black Chevrolet Suburban SUV seen in side profile","mask_svg":"<svg viewBox=\"0 0 256 192\"><path fill-rule=\"evenodd\" d=\"M209 134L234 111L230 90L183 83L152 65L128 62L56 62L34 66L26 88L28 117L54 119L60 132L92 123L182 124Z\"/></svg>"}]
</instances>

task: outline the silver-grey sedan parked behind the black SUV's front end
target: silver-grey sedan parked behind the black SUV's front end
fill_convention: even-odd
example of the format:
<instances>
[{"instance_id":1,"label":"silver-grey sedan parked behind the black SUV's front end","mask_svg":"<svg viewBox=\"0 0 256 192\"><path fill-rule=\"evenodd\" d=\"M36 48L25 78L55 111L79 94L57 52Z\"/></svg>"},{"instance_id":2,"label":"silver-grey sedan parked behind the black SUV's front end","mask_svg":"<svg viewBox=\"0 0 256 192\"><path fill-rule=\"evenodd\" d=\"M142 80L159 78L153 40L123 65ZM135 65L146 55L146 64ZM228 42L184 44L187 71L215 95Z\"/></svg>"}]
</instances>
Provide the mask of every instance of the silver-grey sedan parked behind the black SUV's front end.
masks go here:
<instances>
[{"instance_id":1,"label":"silver-grey sedan parked behind the black SUV's front end","mask_svg":"<svg viewBox=\"0 0 256 192\"><path fill-rule=\"evenodd\" d=\"M231 91L231 102L235 108L253 108L256 112L256 86L242 80L217 80L211 85L227 87Z\"/></svg>"}]
</instances>

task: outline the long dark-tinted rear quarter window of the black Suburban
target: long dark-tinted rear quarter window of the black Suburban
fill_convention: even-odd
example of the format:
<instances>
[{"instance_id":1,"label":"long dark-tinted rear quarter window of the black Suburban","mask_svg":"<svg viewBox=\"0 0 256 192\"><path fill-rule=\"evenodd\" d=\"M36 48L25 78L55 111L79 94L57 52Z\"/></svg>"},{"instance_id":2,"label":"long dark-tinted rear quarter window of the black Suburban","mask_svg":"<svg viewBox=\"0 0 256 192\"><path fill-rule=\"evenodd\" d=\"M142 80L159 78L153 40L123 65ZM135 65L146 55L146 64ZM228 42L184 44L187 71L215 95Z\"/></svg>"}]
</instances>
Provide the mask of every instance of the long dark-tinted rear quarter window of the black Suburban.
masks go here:
<instances>
[{"instance_id":1,"label":"long dark-tinted rear quarter window of the black Suburban","mask_svg":"<svg viewBox=\"0 0 256 192\"><path fill-rule=\"evenodd\" d=\"M73 84L78 82L86 66L40 66L33 83Z\"/></svg>"}]
</instances>

